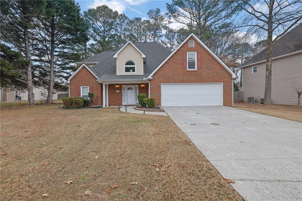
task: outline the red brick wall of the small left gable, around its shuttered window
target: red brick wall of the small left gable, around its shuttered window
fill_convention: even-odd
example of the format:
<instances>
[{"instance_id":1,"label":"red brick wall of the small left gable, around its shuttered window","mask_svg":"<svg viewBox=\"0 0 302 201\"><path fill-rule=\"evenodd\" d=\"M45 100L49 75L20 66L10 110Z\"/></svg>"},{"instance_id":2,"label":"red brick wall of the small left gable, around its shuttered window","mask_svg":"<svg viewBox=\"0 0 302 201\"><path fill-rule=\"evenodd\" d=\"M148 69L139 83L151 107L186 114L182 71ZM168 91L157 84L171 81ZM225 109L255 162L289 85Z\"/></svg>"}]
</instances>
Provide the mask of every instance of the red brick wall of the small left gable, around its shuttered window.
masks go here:
<instances>
[{"instance_id":1,"label":"red brick wall of the small left gable, around its shuttered window","mask_svg":"<svg viewBox=\"0 0 302 201\"><path fill-rule=\"evenodd\" d=\"M70 80L70 97L77 96L78 86L93 86L93 93L95 96L94 105L103 105L103 86L101 83L96 81L96 77L85 67Z\"/></svg>"}]
</instances>

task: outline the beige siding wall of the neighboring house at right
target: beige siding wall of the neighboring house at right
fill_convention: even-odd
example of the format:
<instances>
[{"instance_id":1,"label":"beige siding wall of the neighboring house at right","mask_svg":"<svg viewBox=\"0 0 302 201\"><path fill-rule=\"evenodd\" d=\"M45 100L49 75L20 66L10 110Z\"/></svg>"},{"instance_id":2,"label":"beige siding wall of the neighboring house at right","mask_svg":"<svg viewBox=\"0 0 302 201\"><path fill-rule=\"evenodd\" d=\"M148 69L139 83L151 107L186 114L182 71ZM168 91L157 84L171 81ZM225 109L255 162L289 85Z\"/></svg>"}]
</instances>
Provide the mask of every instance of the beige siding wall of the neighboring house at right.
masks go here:
<instances>
[{"instance_id":1,"label":"beige siding wall of the neighboring house at right","mask_svg":"<svg viewBox=\"0 0 302 201\"><path fill-rule=\"evenodd\" d=\"M265 62L257 64L257 73L252 73L252 66L244 67L242 71L244 101L247 97L264 98ZM298 96L292 88L294 82L302 84L302 53L273 60L272 103L297 105Z\"/></svg>"}]
</instances>

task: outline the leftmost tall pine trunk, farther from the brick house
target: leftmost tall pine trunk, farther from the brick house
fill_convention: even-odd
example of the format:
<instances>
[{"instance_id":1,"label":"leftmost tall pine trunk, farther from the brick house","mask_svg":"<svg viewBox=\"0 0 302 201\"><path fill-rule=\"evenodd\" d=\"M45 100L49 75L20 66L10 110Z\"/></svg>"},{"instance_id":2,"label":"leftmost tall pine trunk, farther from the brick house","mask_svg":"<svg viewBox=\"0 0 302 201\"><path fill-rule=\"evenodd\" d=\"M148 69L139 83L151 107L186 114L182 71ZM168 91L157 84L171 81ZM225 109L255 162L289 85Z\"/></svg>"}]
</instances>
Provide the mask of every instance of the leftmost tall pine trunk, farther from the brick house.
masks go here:
<instances>
[{"instance_id":1,"label":"leftmost tall pine trunk, farther from the brick house","mask_svg":"<svg viewBox=\"0 0 302 201\"><path fill-rule=\"evenodd\" d=\"M27 62L27 92L28 92L28 105L35 105L34 102L34 91L33 91L33 78L31 72L31 56L29 52L29 37L27 28L24 29L24 40L25 40L25 58Z\"/></svg>"}]
</instances>

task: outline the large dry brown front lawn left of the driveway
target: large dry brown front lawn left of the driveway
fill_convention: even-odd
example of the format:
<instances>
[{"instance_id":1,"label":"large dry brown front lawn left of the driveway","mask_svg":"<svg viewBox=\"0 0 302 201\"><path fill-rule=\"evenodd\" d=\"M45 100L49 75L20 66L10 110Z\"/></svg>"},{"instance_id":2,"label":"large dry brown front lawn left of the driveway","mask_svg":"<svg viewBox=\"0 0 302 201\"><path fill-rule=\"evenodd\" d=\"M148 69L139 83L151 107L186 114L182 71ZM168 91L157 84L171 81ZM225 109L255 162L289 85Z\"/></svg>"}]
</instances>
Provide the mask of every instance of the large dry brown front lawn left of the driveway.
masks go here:
<instances>
[{"instance_id":1,"label":"large dry brown front lawn left of the driveway","mask_svg":"<svg viewBox=\"0 0 302 201\"><path fill-rule=\"evenodd\" d=\"M166 116L2 109L1 153L1 200L242 200Z\"/></svg>"}]
</instances>

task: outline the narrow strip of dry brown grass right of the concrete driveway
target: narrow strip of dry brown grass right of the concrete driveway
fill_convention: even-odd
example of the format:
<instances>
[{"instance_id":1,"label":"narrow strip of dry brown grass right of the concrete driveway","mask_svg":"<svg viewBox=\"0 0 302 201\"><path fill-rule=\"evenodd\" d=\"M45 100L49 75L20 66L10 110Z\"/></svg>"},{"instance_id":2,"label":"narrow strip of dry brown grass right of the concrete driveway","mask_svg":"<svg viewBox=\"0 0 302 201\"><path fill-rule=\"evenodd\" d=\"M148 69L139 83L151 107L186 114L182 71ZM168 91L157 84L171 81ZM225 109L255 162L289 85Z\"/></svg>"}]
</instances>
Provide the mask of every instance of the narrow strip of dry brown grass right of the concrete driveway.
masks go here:
<instances>
[{"instance_id":1,"label":"narrow strip of dry brown grass right of the concrete driveway","mask_svg":"<svg viewBox=\"0 0 302 201\"><path fill-rule=\"evenodd\" d=\"M234 103L234 105L237 109L302 122L302 107L298 109L295 105L265 106L263 104L251 104L246 102L237 102Z\"/></svg>"}]
</instances>

